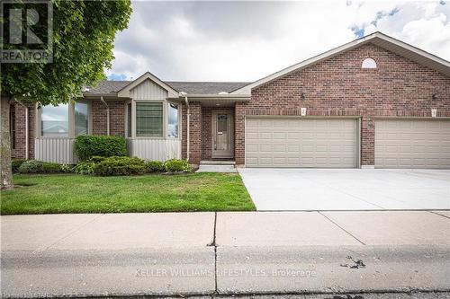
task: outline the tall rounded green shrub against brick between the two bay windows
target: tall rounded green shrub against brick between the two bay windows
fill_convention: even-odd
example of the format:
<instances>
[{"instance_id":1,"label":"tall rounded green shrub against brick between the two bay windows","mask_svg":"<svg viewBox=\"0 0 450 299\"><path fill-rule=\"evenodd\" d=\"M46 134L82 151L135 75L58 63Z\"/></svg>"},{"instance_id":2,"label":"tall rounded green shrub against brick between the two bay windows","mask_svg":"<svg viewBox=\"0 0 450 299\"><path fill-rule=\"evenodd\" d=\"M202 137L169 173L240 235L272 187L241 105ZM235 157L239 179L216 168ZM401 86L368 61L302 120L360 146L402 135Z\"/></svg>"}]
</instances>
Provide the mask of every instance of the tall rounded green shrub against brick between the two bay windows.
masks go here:
<instances>
[{"instance_id":1,"label":"tall rounded green shrub against brick between the two bay windows","mask_svg":"<svg viewBox=\"0 0 450 299\"><path fill-rule=\"evenodd\" d=\"M80 161L94 156L111 157L127 154L127 145L121 136L76 136L74 150Z\"/></svg>"}]
</instances>

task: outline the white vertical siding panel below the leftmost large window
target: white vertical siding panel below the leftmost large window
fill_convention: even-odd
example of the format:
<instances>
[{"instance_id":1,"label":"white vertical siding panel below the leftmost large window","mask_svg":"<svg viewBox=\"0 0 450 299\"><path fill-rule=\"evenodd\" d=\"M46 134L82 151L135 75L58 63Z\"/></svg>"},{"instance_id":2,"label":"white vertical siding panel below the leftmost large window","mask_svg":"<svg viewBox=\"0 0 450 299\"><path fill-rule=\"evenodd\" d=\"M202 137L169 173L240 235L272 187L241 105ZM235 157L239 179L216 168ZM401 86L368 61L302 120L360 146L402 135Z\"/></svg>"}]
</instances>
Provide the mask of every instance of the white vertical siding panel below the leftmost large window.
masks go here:
<instances>
[{"instance_id":1,"label":"white vertical siding panel below the leftmost large window","mask_svg":"<svg viewBox=\"0 0 450 299\"><path fill-rule=\"evenodd\" d=\"M43 162L76 164L74 139L36 138L34 139L34 159Z\"/></svg>"}]
</instances>

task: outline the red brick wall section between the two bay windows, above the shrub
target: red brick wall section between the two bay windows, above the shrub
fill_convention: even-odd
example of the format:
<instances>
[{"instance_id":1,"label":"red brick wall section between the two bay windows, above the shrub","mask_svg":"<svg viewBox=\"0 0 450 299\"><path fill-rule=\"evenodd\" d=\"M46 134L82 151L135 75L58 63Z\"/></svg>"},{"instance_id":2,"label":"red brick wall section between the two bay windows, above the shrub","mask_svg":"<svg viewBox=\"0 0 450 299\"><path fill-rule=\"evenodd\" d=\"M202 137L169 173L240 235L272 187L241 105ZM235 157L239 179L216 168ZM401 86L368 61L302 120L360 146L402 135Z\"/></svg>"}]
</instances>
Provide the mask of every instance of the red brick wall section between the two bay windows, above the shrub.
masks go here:
<instances>
[{"instance_id":1,"label":"red brick wall section between the two bay windows, above the shrub","mask_svg":"<svg viewBox=\"0 0 450 299\"><path fill-rule=\"evenodd\" d=\"M110 108L110 135L125 136L125 102L106 101ZM92 134L107 134L106 106L100 100L92 101Z\"/></svg>"}]
</instances>

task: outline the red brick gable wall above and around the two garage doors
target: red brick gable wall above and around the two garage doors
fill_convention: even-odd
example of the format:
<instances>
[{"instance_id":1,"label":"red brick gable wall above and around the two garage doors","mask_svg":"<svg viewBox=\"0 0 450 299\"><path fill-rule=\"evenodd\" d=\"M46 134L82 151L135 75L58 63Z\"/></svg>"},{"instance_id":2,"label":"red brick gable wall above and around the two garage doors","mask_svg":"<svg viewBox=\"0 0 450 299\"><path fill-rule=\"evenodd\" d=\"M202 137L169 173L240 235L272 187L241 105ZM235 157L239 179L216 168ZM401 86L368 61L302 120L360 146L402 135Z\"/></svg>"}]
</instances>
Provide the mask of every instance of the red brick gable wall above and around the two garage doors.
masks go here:
<instances>
[{"instance_id":1,"label":"red brick gable wall above and around the two garage doors","mask_svg":"<svg viewBox=\"0 0 450 299\"><path fill-rule=\"evenodd\" d=\"M378 67L362 69L365 57ZM259 86L247 106L237 104L236 162L244 163L243 114L300 115L302 107L309 116L360 116L361 162L374 165L374 118L430 117L431 109L450 117L450 77L372 44L349 50Z\"/></svg>"}]
</instances>

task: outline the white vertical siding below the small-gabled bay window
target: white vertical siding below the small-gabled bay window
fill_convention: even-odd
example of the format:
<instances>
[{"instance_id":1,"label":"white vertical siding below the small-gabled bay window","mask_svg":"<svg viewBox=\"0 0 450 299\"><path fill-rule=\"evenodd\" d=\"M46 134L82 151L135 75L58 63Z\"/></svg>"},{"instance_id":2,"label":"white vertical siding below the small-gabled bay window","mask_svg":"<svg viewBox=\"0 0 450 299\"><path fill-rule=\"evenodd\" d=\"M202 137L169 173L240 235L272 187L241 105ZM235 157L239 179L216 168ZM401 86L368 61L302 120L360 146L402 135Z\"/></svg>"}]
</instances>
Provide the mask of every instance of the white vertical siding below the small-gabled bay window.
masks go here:
<instances>
[{"instance_id":1,"label":"white vertical siding below the small-gabled bay window","mask_svg":"<svg viewBox=\"0 0 450 299\"><path fill-rule=\"evenodd\" d=\"M127 139L128 154L145 160L181 159L180 139Z\"/></svg>"}]
</instances>

